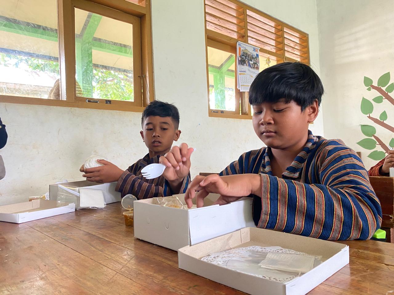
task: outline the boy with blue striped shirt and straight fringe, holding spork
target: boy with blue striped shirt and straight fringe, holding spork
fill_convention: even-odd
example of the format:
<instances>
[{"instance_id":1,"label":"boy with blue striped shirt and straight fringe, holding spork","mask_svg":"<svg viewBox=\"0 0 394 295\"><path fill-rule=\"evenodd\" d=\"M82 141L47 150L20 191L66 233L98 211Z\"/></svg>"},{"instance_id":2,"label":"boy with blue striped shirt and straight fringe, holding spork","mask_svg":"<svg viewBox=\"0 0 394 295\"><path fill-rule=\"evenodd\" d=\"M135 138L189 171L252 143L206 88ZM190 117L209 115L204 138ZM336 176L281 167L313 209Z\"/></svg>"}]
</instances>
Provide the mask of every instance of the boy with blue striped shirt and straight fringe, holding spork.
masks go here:
<instances>
[{"instance_id":1,"label":"boy with blue striped shirt and straight fringe, holding spork","mask_svg":"<svg viewBox=\"0 0 394 295\"><path fill-rule=\"evenodd\" d=\"M256 135L267 147L244 153L219 175L195 177L185 194L188 206L193 198L202 206L210 192L221 195L219 205L252 195L258 227L324 240L371 238L382 213L361 159L342 140L308 130L322 94L320 78L301 63L258 74L249 103ZM160 162L174 166L168 158Z\"/></svg>"}]
</instances>

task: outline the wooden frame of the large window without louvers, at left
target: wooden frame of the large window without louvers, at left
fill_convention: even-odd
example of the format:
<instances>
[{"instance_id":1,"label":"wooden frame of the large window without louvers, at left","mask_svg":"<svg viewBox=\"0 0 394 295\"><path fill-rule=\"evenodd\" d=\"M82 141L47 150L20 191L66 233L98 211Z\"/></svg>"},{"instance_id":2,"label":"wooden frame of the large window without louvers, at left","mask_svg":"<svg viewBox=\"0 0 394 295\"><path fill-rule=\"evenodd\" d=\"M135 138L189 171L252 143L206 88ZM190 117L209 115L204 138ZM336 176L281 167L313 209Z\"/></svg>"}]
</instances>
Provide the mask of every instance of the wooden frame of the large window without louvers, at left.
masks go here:
<instances>
[{"instance_id":1,"label":"wooden frame of the large window without louvers, at left","mask_svg":"<svg viewBox=\"0 0 394 295\"><path fill-rule=\"evenodd\" d=\"M154 100L150 1L139 1L142 5L125 0L57 0L57 2L60 97L66 99L0 95L0 102L142 112L149 102ZM133 52L140 56L138 59L133 58L133 71L136 73L133 75L134 93L141 93L141 96L134 96L134 102L110 100L111 104L106 104L106 99L76 96L75 8L133 24ZM138 70L138 73L135 70ZM99 103L90 103L86 100L97 100Z\"/></svg>"}]
</instances>

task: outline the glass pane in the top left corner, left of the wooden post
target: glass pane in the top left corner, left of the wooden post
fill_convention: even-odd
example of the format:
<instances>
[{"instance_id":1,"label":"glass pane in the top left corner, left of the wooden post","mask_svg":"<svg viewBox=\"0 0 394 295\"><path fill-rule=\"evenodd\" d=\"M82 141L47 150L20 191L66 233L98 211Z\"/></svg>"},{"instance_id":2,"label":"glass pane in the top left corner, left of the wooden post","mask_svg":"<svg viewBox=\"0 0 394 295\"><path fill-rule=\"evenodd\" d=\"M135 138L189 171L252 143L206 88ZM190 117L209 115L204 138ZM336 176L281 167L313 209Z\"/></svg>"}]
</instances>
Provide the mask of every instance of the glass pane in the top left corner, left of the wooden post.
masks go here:
<instances>
[{"instance_id":1,"label":"glass pane in the top left corner, left of the wooden post","mask_svg":"<svg viewBox=\"0 0 394 295\"><path fill-rule=\"evenodd\" d=\"M0 6L0 94L60 99L56 0Z\"/></svg>"}]
</instances>

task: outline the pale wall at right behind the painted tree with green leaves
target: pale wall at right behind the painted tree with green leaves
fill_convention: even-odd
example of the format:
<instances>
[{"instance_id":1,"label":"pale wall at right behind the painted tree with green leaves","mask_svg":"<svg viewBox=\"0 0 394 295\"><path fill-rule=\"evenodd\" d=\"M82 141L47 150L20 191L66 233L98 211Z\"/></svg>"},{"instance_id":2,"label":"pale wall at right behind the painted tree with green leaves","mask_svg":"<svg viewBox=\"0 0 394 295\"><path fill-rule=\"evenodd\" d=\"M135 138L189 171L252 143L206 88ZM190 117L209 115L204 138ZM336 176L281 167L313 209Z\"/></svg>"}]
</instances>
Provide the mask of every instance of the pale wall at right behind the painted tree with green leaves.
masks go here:
<instances>
[{"instance_id":1,"label":"pale wall at right behind the painted tree with green leaves","mask_svg":"<svg viewBox=\"0 0 394 295\"><path fill-rule=\"evenodd\" d=\"M317 9L320 68L326 92L324 134L327 138L341 138L349 147L361 151L369 169L377 161L367 157L371 151L356 144L366 138L359 125L376 126L377 135L386 144L394 137L360 111L363 96L372 101L379 95L366 90L364 76L376 83L382 74L391 71L391 82L394 81L394 2L317 0ZM388 114L387 123L394 126L394 106L387 101L374 103L372 115L379 118L384 110Z\"/></svg>"}]
</instances>

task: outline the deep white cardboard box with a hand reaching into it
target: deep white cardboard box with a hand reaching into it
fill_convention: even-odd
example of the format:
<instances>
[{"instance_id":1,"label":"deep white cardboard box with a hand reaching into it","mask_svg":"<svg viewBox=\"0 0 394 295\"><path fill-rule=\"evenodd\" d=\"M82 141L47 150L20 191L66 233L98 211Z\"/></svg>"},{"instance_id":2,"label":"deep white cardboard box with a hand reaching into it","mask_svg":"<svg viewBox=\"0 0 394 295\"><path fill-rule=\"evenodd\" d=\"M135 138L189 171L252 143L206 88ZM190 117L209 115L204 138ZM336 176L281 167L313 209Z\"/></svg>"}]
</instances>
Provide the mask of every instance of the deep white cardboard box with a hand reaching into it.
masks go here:
<instances>
[{"instance_id":1,"label":"deep white cardboard box with a hand reaching into it","mask_svg":"<svg viewBox=\"0 0 394 295\"><path fill-rule=\"evenodd\" d=\"M184 194L172 197L175 196L185 204ZM204 199L204 207L188 210L156 205L154 198L134 201L134 237L177 251L186 245L255 226L253 198L212 205L218 197L218 194L209 194Z\"/></svg>"}]
</instances>

